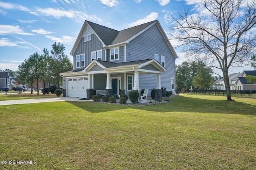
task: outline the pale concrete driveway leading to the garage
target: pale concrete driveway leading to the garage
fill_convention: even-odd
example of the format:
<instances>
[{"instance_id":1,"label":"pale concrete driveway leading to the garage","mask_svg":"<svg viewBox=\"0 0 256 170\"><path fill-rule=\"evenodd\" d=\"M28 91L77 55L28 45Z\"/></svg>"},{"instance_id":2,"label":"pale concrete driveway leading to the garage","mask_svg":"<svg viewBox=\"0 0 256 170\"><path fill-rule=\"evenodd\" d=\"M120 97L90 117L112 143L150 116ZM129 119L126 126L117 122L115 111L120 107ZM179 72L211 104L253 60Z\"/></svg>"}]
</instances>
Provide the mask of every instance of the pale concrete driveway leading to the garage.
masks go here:
<instances>
[{"instance_id":1,"label":"pale concrete driveway leading to the garage","mask_svg":"<svg viewBox=\"0 0 256 170\"><path fill-rule=\"evenodd\" d=\"M88 102L92 100L79 100L80 98L42 98L42 99L22 99L22 100L6 100L0 101L0 106L11 105L11 104L30 104L30 103L43 103L43 102L60 102L60 101L74 101L74 102Z\"/></svg>"}]
</instances>

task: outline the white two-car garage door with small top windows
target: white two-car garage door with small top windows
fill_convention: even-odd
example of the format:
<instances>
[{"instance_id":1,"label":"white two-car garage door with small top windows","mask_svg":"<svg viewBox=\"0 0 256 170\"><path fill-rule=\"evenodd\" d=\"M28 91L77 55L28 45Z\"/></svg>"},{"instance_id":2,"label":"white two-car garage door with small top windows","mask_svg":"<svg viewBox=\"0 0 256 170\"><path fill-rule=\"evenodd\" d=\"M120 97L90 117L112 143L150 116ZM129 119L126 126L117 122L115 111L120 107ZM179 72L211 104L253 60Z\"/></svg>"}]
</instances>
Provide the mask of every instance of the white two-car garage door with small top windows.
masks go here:
<instances>
[{"instance_id":1,"label":"white two-car garage door with small top windows","mask_svg":"<svg viewBox=\"0 0 256 170\"><path fill-rule=\"evenodd\" d=\"M75 98L86 98L88 78L68 78L67 96Z\"/></svg>"}]
</instances>

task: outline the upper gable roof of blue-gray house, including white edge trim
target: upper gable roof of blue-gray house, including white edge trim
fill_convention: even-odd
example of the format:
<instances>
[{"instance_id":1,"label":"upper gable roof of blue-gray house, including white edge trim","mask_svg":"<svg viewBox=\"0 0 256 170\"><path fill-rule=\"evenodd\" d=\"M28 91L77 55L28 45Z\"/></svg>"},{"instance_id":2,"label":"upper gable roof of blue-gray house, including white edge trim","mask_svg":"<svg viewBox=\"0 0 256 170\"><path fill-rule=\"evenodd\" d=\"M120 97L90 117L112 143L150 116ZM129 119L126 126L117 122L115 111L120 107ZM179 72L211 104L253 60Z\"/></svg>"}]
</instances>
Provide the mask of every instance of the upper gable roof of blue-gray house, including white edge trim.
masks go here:
<instances>
[{"instance_id":1,"label":"upper gable roof of blue-gray house, including white edge trim","mask_svg":"<svg viewBox=\"0 0 256 170\"><path fill-rule=\"evenodd\" d=\"M111 29L108 27L105 27L103 25L99 25L97 23L93 23L91 21L84 21L84 24L82 26L82 29L80 30L80 33L76 39L76 42L72 48L72 51L70 52L70 55L74 54L74 51L76 47L78 46L78 43L80 42L80 39L82 38L83 30L86 27L86 25L89 25L96 36L100 39L100 41L103 43L103 47L108 47L112 45L117 45L119 43L129 43L132 39L152 27L153 25L157 25L158 29L160 30L162 36L164 37L168 47L172 51L172 54L174 55L175 59L178 58L176 52L174 51L168 37L164 33L164 30L162 29L160 23L158 20L150 21L148 23L143 23L141 25L137 25L128 29L124 29L121 31L117 31L115 29Z\"/></svg>"}]
</instances>

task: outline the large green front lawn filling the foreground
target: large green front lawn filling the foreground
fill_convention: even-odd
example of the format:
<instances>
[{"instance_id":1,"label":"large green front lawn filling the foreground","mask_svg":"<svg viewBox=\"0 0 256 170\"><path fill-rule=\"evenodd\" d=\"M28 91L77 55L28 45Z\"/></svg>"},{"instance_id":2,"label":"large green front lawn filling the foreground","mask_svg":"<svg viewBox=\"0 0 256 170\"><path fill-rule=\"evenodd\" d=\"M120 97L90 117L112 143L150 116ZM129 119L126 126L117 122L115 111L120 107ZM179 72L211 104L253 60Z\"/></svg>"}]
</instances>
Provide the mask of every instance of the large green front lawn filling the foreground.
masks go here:
<instances>
[{"instance_id":1,"label":"large green front lawn filling the foreground","mask_svg":"<svg viewBox=\"0 0 256 170\"><path fill-rule=\"evenodd\" d=\"M234 99L0 106L0 169L255 170L256 100Z\"/></svg>"}]
</instances>

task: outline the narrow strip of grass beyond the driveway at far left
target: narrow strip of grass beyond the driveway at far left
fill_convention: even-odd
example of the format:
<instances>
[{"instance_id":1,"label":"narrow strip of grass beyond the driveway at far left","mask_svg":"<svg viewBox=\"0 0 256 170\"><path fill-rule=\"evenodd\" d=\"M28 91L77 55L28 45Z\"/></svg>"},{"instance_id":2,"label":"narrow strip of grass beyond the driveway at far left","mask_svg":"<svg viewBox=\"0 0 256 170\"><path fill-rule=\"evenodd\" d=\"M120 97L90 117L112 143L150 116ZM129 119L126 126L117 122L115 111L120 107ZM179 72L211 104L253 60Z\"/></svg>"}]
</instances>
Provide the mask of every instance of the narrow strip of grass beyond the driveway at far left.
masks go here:
<instances>
[{"instance_id":1,"label":"narrow strip of grass beyond the driveway at far left","mask_svg":"<svg viewBox=\"0 0 256 170\"><path fill-rule=\"evenodd\" d=\"M7 95L0 95L0 101L5 100L21 100L21 99L39 99L39 98L58 98L56 94L42 94L34 92L33 94L7 94Z\"/></svg>"}]
</instances>

